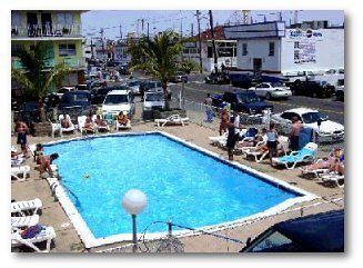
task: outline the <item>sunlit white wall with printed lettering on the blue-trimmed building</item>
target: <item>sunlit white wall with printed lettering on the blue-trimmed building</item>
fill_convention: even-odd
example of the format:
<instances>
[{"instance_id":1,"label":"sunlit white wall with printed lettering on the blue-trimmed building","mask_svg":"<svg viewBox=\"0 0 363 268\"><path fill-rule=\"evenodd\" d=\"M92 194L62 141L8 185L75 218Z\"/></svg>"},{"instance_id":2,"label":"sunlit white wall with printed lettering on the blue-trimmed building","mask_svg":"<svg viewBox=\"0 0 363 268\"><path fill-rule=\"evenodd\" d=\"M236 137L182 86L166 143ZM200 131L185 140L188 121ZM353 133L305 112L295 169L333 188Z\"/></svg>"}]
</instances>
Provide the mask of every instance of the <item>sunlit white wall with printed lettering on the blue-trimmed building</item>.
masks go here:
<instances>
[{"instance_id":1,"label":"sunlit white wall with printed lettering on the blue-trimmed building","mask_svg":"<svg viewBox=\"0 0 363 268\"><path fill-rule=\"evenodd\" d=\"M281 71L319 71L344 68L344 29L319 29L313 30L316 36L307 38L304 32L300 36L291 36L292 29L286 30L286 37L282 38ZM300 41L307 46L311 60L305 63L294 62L294 42ZM304 52L303 52L304 53Z\"/></svg>"}]
</instances>

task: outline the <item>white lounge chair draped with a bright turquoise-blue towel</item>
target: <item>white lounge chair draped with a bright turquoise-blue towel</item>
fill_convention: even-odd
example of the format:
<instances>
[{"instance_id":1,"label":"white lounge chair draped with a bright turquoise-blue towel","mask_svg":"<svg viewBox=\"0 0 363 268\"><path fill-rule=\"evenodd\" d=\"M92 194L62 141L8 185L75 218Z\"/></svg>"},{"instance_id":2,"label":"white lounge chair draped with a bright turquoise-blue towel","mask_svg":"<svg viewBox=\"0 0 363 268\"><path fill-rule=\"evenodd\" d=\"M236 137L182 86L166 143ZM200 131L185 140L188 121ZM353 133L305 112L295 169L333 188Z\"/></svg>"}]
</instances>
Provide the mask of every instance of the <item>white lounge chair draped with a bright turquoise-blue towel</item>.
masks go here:
<instances>
[{"instance_id":1,"label":"white lounge chair draped with a bright turquoise-blue towel","mask_svg":"<svg viewBox=\"0 0 363 268\"><path fill-rule=\"evenodd\" d=\"M312 162L315 159L317 145L309 142L300 151L292 151L288 156L272 158L272 163L275 166L284 166L286 169L294 169L298 163Z\"/></svg>"}]
</instances>

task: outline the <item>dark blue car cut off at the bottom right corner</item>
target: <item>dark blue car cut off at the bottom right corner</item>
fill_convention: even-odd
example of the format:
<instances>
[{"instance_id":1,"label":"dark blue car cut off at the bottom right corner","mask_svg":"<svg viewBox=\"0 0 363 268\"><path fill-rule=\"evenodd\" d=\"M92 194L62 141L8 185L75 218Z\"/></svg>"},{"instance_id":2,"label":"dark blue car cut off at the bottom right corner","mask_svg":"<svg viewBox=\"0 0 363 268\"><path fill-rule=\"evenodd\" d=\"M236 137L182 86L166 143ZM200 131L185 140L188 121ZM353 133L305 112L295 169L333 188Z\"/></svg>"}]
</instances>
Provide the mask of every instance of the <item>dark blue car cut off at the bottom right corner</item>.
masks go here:
<instances>
[{"instance_id":1,"label":"dark blue car cut off at the bottom right corner","mask_svg":"<svg viewBox=\"0 0 363 268\"><path fill-rule=\"evenodd\" d=\"M344 210L279 222L240 252L344 252Z\"/></svg>"}]
</instances>

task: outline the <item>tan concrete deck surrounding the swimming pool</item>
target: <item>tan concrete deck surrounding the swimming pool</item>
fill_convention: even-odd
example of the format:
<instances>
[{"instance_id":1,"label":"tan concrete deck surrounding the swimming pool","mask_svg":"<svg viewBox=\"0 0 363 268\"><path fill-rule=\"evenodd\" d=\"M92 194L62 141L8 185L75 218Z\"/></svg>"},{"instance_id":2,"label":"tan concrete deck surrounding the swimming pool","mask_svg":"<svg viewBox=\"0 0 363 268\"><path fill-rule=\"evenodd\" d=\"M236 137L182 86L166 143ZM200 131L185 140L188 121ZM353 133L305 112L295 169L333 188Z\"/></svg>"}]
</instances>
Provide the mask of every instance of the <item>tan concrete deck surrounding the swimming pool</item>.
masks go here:
<instances>
[{"instance_id":1,"label":"tan concrete deck surrounding the swimming pool","mask_svg":"<svg viewBox=\"0 0 363 268\"><path fill-rule=\"evenodd\" d=\"M139 123L132 127L132 131L152 131L152 130L162 130L181 139L184 139L189 142L195 143L206 150L221 155L223 158L228 158L226 151L209 145L208 137L218 136L216 131L213 131L208 128L190 123L184 127L165 127L157 128L154 123ZM69 136L69 138L80 137L80 133ZM29 143L38 142L49 142L52 140L58 140L61 138L50 138L50 137L29 137ZM63 137L62 139L67 139ZM11 137L11 143L16 145L16 137ZM319 151L319 156L323 156L325 152ZM331 188L327 186L320 185L316 180L302 179L299 177L300 170L280 170L272 168L269 165L269 161L265 160L261 163L255 163L250 160L243 159L241 156L235 156L235 161L251 167L260 172L272 176L276 179L286 181L294 185L298 188L312 192L319 198L312 201L304 202L302 205L296 205L289 210L292 212L286 212L278 216L268 217L258 221L253 221L246 226L234 227L231 229L225 229L218 231L216 234L228 236L234 239L245 241L248 237L254 238L261 231L268 229L271 225L295 218L301 215L301 206L305 206L303 209L303 215L316 214L321 211L327 211L333 209L344 208L344 189L341 188ZM62 207L58 201L54 201L51 196L50 187L47 180L39 179L38 172L33 169L34 163L32 159L28 159L26 165L31 167L30 178L26 181L20 182L12 180L11 182L11 198L16 200L27 200L32 198L40 198L43 202L42 215L40 216L40 224L53 226L57 238L56 247L51 249L51 252L82 252L84 250L84 245L80 240L72 222L67 217ZM330 200L335 200L334 202ZM121 209L121 207L120 207ZM185 252L236 252L242 248L243 245L226 242L222 239L216 239L215 237L206 235L196 235L190 237L180 238L180 241L184 246ZM112 246L119 246L112 245ZM101 249L107 249L110 246L103 246L99 248L92 248L91 251L98 251ZM131 251L132 249L125 249L124 251Z\"/></svg>"}]
</instances>

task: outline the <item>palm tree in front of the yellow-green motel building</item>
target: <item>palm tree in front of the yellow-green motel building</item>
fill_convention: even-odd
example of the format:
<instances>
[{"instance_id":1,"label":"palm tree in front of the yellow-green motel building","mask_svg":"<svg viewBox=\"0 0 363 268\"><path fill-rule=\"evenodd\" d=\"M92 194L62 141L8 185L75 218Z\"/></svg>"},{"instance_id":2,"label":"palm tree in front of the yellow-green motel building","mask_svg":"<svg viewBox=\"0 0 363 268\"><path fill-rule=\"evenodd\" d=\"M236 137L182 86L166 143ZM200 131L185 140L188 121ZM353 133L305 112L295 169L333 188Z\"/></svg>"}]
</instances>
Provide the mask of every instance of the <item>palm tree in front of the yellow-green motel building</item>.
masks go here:
<instances>
[{"instance_id":1,"label":"palm tree in front of the yellow-green motel building","mask_svg":"<svg viewBox=\"0 0 363 268\"><path fill-rule=\"evenodd\" d=\"M71 68L60 63L53 68L47 67L49 44L37 42L32 51L20 50L14 52L23 66L23 70L11 68L11 78L26 89L28 96L38 99L40 121L46 122L43 98L51 91L52 86L59 83Z\"/></svg>"}]
</instances>

